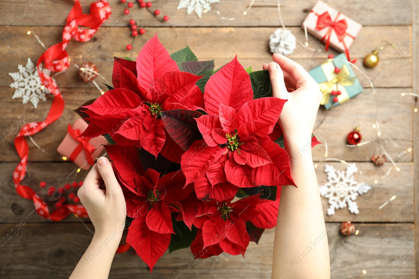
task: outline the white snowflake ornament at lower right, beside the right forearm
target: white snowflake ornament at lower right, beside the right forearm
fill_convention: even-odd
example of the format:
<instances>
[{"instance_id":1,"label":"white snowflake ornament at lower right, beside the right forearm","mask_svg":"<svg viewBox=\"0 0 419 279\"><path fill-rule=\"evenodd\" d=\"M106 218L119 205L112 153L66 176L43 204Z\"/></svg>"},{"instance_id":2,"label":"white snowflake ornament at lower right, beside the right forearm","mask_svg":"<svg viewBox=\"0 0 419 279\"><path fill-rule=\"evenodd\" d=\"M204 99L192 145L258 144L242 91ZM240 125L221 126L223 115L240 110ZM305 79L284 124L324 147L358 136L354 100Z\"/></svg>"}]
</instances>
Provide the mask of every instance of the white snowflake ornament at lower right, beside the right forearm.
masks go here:
<instances>
[{"instance_id":1,"label":"white snowflake ornament at lower right, beside the right forearm","mask_svg":"<svg viewBox=\"0 0 419 279\"><path fill-rule=\"evenodd\" d=\"M326 184L318 187L320 195L329 199L327 215L335 214L335 209L348 207L348 211L359 214L358 205L355 200L358 195L365 194L371 187L360 187L365 185L354 180L353 174L358 171L356 164L347 166L346 171L337 171L334 166L326 165L324 172L327 174ZM360 190L360 188L362 188Z\"/></svg>"}]
</instances>

